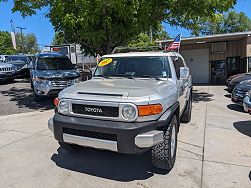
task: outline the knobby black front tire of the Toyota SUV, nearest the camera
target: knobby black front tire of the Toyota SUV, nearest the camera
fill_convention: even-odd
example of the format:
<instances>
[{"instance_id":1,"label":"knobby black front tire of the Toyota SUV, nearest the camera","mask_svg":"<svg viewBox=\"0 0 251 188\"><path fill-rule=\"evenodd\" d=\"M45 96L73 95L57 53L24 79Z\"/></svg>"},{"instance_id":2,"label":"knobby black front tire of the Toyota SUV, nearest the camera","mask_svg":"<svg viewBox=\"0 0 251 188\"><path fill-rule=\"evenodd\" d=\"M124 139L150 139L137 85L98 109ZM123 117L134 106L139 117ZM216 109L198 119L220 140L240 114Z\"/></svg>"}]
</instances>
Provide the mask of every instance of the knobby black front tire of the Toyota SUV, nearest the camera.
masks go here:
<instances>
[{"instance_id":1,"label":"knobby black front tire of the Toyota SUV, nearest the camera","mask_svg":"<svg viewBox=\"0 0 251 188\"><path fill-rule=\"evenodd\" d=\"M171 138L172 138L172 129L175 126L175 150L173 156L171 156ZM164 133L164 139L159 144L153 146L152 148L152 164L154 167L171 171L174 166L176 159L177 151L177 130L178 130L178 121L176 115L173 115L173 118Z\"/></svg>"}]
</instances>

